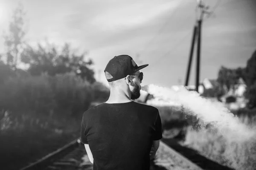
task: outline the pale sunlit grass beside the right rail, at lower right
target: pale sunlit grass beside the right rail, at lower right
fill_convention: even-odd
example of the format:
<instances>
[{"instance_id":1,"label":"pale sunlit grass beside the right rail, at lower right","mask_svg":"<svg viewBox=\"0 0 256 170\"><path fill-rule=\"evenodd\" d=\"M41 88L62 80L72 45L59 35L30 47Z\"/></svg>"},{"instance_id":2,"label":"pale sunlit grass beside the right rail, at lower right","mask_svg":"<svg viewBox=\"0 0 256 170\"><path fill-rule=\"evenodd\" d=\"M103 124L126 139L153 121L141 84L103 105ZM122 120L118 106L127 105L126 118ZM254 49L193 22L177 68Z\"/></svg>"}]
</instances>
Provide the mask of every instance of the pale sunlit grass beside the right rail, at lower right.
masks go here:
<instances>
[{"instance_id":1,"label":"pale sunlit grass beside the right rail, at lower right","mask_svg":"<svg viewBox=\"0 0 256 170\"><path fill-rule=\"evenodd\" d=\"M248 126L256 127L256 122L252 124L250 120L256 120L249 116L240 116L241 122ZM238 134L239 135L239 134ZM256 167L256 140L241 142L231 139L229 134L222 135L213 133L211 129L193 130L188 128L185 142L187 147L198 150L202 155L220 164L233 167L236 170L255 170Z\"/></svg>"}]
</instances>

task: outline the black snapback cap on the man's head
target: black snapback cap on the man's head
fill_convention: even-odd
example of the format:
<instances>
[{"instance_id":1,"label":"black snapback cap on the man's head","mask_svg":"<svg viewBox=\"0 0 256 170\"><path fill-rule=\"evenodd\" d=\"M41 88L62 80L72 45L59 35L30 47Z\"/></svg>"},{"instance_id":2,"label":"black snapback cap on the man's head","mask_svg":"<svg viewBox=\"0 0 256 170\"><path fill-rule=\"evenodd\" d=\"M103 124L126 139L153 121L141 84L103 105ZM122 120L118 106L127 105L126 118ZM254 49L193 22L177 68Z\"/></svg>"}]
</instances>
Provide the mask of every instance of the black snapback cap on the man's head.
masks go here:
<instances>
[{"instance_id":1,"label":"black snapback cap on the man's head","mask_svg":"<svg viewBox=\"0 0 256 170\"><path fill-rule=\"evenodd\" d=\"M108 71L108 73L111 74L113 78L107 79L107 80L108 82L113 82L115 80L125 78L127 75L131 75L136 71L142 68L145 68L147 66L148 64L138 66L134 62L132 57L128 55L119 55L119 56L113 57L113 59L111 59L108 62L104 72Z\"/></svg>"}]
</instances>

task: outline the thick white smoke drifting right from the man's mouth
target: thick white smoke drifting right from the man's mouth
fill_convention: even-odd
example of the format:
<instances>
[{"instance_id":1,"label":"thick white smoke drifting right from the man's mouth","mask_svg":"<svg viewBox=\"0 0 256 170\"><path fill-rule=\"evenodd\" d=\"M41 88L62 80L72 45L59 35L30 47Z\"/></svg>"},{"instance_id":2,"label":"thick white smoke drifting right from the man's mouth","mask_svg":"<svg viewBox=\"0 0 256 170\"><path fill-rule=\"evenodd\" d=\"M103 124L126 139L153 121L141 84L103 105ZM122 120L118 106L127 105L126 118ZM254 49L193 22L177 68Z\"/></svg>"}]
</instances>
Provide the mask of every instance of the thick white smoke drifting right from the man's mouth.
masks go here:
<instances>
[{"instance_id":1,"label":"thick white smoke drifting right from the man's mouth","mask_svg":"<svg viewBox=\"0 0 256 170\"><path fill-rule=\"evenodd\" d=\"M255 130L244 125L237 116L225 108L221 102L212 102L202 98L195 91L188 91L185 87L170 89L157 85L148 85L148 93L166 102L180 103L189 109L187 114L197 116L201 126L211 124L229 140L246 141L255 135Z\"/></svg>"}]
</instances>

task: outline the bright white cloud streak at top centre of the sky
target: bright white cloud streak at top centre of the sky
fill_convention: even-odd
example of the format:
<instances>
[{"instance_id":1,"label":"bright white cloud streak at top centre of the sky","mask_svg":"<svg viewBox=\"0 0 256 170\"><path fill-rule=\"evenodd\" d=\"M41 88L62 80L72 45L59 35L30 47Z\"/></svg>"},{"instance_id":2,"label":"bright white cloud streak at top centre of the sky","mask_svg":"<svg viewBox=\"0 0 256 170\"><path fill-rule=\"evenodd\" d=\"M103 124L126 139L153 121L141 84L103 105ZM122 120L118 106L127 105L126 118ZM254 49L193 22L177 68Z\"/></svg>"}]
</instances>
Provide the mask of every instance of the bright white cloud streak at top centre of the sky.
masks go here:
<instances>
[{"instance_id":1,"label":"bright white cloud streak at top centre of the sky","mask_svg":"<svg viewBox=\"0 0 256 170\"><path fill-rule=\"evenodd\" d=\"M142 26L166 11L176 8L180 1L162 4L131 3L119 8L108 8L91 19L92 26L102 31L122 31Z\"/></svg>"}]
</instances>

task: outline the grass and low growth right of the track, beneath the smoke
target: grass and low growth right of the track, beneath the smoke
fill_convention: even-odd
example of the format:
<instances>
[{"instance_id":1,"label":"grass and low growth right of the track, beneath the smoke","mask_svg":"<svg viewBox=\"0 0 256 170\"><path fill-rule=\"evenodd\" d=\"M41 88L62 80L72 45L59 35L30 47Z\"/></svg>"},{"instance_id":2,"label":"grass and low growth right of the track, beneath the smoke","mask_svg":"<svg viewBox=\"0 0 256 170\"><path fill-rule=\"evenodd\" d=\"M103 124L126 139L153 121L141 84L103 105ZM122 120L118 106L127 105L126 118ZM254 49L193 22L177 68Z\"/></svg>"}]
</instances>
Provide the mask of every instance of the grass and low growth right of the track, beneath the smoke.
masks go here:
<instances>
[{"instance_id":1,"label":"grass and low growth right of the track, beneath the smoke","mask_svg":"<svg viewBox=\"0 0 256 170\"><path fill-rule=\"evenodd\" d=\"M255 170L256 167L256 139L239 142L232 139L230 134L221 134L211 127L196 128L195 117L186 116L177 106L157 106L162 119L163 130L186 130L183 141L180 144L195 149L201 155L232 167L236 170ZM247 127L256 129L256 111L233 112L239 116L240 121ZM184 123L187 122L186 123ZM184 128L186 126L186 128ZM177 133L176 133L177 134ZM238 134L239 135L239 134Z\"/></svg>"}]
</instances>

